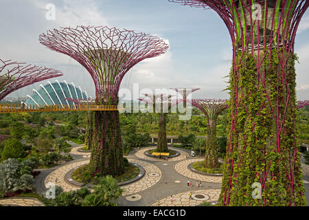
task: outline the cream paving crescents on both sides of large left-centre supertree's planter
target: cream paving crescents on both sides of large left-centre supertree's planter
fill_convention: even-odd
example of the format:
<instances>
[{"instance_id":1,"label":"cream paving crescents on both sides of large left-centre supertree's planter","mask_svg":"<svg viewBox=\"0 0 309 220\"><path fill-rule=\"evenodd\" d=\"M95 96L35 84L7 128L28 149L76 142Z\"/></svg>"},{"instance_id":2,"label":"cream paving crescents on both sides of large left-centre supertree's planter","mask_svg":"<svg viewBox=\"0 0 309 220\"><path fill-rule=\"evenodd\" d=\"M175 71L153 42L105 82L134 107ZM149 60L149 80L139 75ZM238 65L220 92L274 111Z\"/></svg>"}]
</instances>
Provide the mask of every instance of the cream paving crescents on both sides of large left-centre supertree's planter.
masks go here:
<instances>
[{"instance_id":1,"label":"cream paving crescents on both sides of large left-centre supertree's planter","mask_svg":"<svg viewBox=\"0 0 309 220\"><path fill-rule=\"evenodd\" d=\"M144 168L146 171L144 177L139 179L138 181L133 182L132 184L128 184L125 186L122 186L121 188L124 189L123 195L130 195L133 193L137 193L143 190L146 190L146 188L149 188L155 184L161 179L162 173L161 170L148 162L136 160L136 159L128 159L129 162L139 164ZM52 173L50 173L44 181L45 187L47 188L47 183L55 184L56 186L61 186L65 192L69 190L78 190L78 186L73 186L71 184L68 184L65 181L65 174L69 172L69 170L72 170L73 168L76 168L78 166L82 166L84 164L88 164L89 160L83 160L81 162L76 162L72 164L68 164L66 166L61 166L60 168L54 170ZM157 173L155 176L149 176L148 173Z\"/></svg>"}]
</instances>

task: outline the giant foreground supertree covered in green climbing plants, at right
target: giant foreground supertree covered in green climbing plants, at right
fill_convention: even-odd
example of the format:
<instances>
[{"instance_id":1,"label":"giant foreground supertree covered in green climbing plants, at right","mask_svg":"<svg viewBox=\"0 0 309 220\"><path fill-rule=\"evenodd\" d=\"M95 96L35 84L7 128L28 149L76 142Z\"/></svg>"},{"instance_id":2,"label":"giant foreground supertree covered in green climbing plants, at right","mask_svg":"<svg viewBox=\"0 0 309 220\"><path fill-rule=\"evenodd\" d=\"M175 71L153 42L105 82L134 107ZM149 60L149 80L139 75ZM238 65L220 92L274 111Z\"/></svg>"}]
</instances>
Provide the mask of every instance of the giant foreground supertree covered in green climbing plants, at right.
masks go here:
<instances>
[{"instance_id":1,"label":"giant foreground supertree covered in green climbing plants, at right","mask_svg":"<svg viewBox=\"0 0 309 220\"><path fill-rule=\"evenodd\" d=\"M309 0L169 1L215 10L231 36L229 137L219 203L303 206L294 49Z\"/></svg>"}]
</instances>

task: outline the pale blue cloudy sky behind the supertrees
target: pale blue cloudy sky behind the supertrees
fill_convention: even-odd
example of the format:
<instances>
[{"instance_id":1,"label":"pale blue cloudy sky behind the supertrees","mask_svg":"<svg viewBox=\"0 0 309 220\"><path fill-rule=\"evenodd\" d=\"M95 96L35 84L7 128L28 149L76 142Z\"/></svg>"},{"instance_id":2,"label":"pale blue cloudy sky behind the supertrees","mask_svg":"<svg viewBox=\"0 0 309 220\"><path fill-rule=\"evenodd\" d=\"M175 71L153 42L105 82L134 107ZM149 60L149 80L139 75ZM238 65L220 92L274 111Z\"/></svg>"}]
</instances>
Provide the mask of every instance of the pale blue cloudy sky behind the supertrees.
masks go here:
<instances>
[{"instance_id":1,"label":"pale blue cloudy sky behind the supertrees","mask_svg":"<svg viewBox=\"0 0 309 220\"><path fill-rule=\"evenodd\" d=\"M48 4L56 6L55 20L46 18ZM66 80L95 95L86 69L64 54L47 49L38 36L47 30L77 25L105 26L159 36L170 45L165 54L148 58L124 76L120 88L201 88L193 98L229 98L226 91L232 47L227 28L212 10L190 8L168 0L1 0L0 58L59 69ZM295 52L297 99L308 100L309 12L297 32ZM25 97L47 80L10 94Z\"/></svg>"}]
</instances>

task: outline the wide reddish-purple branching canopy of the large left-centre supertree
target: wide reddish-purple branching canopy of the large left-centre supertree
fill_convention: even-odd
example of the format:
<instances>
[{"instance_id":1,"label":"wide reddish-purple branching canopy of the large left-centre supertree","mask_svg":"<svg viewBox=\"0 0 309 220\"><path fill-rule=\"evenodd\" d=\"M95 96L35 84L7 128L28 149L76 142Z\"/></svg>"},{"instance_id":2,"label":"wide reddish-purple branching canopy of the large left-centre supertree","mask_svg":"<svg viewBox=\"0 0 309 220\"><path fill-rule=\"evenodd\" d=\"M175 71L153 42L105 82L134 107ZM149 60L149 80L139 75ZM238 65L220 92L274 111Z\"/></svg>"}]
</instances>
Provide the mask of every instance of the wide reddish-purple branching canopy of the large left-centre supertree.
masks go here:
<instances>
[{"instance_id":1,"label":"wide reddish-purple branching canopy of the large left-centre supertree","mask_svg":"<svg viewBox=\"0 0 309 220\"><path fill-rule=\"evenodd\" d=\"M95 84L96 100L117 100L124 75L146 58L167 52L157 36L108 27L60 28L41 34L39 41L51 50L67 54L87 69Z\"/></svg>"}]
</instances>

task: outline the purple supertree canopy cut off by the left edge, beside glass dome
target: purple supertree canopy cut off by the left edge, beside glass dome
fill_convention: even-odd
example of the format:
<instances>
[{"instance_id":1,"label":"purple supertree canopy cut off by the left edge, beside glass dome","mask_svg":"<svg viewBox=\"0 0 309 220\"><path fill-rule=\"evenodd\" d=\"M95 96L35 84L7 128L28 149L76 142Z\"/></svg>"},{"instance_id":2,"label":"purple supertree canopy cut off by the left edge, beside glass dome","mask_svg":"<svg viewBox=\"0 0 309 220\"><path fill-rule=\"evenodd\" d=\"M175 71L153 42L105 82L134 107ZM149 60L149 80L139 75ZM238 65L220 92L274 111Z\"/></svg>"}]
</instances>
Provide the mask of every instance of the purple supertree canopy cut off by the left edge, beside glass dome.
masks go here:
<instances>
[{"instance_id":1,"label":"purple supertree canopy cut off by the left edge, beside glass dome","mask_svg":"<svg viewBox=\"0 0 309 220\"><path fill-rule=\"evenodd\" d=\"M58 76L62 73L57 69L0 59L0 100L17 89Z\"/></svg>"}]
</instances>

